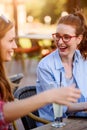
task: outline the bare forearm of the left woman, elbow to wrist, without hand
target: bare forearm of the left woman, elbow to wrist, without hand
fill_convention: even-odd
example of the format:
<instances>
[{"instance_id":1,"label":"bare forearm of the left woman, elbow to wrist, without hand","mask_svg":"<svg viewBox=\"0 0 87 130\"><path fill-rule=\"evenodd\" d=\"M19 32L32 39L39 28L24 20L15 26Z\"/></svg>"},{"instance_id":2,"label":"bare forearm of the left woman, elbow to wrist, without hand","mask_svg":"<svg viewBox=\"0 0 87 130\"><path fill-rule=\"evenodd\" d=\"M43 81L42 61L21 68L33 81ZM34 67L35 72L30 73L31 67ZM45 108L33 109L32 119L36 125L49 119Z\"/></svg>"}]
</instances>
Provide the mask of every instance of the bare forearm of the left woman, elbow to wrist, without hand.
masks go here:
<instances>
[{"instance_id":1,"label":"bare forearm of the left woman, elbow to wrist, without hand","mask_svg":"<svg viewBox=\"0 0 87 130\"><path fill-rule=\"evenodd\" d=\"M17 118L27 115L29 112L43 107L44 105L50 103L48 96L49 95L46 93L41 93L27 99L6 103L4 105L5 120L7 122L12 122Z\"/></svg>"}]
</instances>

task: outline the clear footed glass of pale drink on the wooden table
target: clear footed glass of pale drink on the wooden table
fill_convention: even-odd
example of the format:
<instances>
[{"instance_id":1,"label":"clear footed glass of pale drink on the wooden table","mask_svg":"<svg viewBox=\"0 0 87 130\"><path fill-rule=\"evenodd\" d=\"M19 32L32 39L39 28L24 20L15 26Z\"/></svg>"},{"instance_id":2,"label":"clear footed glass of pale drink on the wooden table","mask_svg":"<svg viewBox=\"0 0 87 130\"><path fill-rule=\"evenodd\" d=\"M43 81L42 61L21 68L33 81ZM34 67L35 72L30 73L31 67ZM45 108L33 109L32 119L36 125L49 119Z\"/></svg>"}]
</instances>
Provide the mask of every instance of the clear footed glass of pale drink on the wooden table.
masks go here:
<instances>
[{"instance_id":1,"label":"clear footed glass of pale drink on the wooden table","mask_svg":"<svg viewBox=\"0 0 87 130\"><path fill-rule=\"evenodd\" d=\"M56 128L64 127L66 124L63 122L63 106L53 103L53 111L55 121L52 126Z\"/></svg>"}]
</instances>

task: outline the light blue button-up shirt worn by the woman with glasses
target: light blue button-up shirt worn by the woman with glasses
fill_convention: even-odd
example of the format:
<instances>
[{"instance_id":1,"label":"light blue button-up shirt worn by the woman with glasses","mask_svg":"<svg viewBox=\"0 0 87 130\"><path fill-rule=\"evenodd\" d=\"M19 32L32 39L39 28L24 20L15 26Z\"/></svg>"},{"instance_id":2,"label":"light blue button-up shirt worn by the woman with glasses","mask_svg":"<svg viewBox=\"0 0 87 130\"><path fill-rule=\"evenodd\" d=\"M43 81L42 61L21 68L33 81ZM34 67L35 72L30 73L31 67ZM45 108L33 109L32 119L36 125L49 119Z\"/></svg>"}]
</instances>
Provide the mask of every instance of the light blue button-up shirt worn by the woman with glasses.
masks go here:
<instances>
[{"instance_id":1,"label":"light blue button-up shirt worn by the woman with glasses","mask_svg":"<svg viewBox=\"0 0 87 130\"><path fill-rule=\"evenodd\" d=\"M38 64L36 82L37 93L51 89L51 82L53 82L54 87L57 88L60 83L60 72L62 72L62 84L66 87L67 82L65 78L64 66L59 56L59 52L56 49L54 52L44 57ZM87 99L87 60L82 58L79 50L76 50L74 54L73 77L76 87L80 88L82 92L82 96L78 102L85 102ZM64 107L64 113L66 110L67 107ZM52 104L46 105L45 107L39 109L39 115L42 118L54 121ZM39 126L40 124L37 125Z\"/></svg>"}]
</instances>

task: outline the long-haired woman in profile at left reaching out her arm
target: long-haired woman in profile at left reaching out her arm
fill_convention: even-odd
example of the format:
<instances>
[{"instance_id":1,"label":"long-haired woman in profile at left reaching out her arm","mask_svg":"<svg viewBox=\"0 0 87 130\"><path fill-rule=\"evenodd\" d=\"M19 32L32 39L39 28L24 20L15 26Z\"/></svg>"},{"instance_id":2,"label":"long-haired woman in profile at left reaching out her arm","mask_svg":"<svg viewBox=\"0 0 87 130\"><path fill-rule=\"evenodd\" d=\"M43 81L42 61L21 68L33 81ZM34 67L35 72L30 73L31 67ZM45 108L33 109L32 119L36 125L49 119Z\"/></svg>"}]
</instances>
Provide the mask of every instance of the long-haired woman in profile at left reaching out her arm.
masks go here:
<instances>
[{"instance_id":1,"label":"long-haired woman in profile at left reaching out her arm","mask_svg":"<svg viewBox=\"0 0 87 130\"><path fill-rule=\"evenodd\" d=\"M52 89L23 100L14 100L12 84L6 76L4 62L10 61L17 48L13 22L0 16L0 130L11 130L10 122L51 102L68 105L80 97L76 88ZM67 93L68 91L68 93ZM63 94L65 92L65 94ZM59 95L59 96L57 96Z\"/></svg>"}]
</instances>

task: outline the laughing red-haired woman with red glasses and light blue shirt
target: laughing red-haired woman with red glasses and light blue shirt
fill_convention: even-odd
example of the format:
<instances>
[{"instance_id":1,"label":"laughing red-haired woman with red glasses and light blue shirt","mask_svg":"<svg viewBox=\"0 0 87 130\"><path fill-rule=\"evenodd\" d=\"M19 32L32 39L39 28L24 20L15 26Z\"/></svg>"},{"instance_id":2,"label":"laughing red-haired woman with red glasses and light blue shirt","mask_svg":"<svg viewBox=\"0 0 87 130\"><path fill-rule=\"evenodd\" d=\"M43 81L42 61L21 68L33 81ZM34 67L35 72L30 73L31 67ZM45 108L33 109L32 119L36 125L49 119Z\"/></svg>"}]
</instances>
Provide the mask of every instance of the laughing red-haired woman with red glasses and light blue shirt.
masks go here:
<instances>
[{"instance_id":1,"label":"laughing red-haired woman with red glasses and light blue shirt","mask_svg":"<svg viewBox=\"0 0 87 130\"><path fill-rule=\"evenodd\" d=\"M87 116L77 112L87 110L87 25L82 11L60 17L52 37L57 49L43 58L37 67L37 93L50 89L50 82L57 88L62 72L63 87L74 84L82 93L79 103L64 107L64 115L69 112ZM39 115L54 121L52 104L39 109Z\"/></svg>"}]
</instances>

